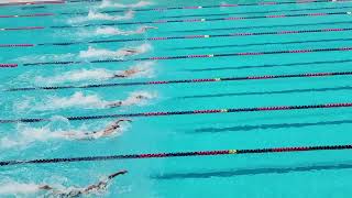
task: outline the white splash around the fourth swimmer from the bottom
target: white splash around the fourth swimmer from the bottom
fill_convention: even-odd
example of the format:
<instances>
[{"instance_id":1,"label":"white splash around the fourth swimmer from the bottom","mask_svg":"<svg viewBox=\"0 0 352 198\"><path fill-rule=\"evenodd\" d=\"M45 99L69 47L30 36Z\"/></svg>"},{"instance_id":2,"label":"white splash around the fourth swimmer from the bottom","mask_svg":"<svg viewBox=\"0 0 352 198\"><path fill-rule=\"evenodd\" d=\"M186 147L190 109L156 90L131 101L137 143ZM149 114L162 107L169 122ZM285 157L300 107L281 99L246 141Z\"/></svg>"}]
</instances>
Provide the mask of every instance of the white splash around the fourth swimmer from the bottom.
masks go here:
<instances>
[{"instance_id":1,"label":"white splash around the fourth swimmer from the bottom","mask_svg":"<svg viewBox=\"0 0 352 198\"><path fill-rule=\"evenodd\" d=\"M136 70L135 74L131 75L129 78L140 78L140 77L153 77L154 62L141 62L136 65L133 65L129 68L129 70ZM123 74L123 70L109 70L103 68L96 69L77 69L63 73L61 75L54 77L35 77L36 85L54 85L54 84L63 84L63 82L78 82L78 81L88 81L88 80L107 80L112 78L116 74ZM23 103L23 106L28 106Z\"/></svg>"}]
</instances>

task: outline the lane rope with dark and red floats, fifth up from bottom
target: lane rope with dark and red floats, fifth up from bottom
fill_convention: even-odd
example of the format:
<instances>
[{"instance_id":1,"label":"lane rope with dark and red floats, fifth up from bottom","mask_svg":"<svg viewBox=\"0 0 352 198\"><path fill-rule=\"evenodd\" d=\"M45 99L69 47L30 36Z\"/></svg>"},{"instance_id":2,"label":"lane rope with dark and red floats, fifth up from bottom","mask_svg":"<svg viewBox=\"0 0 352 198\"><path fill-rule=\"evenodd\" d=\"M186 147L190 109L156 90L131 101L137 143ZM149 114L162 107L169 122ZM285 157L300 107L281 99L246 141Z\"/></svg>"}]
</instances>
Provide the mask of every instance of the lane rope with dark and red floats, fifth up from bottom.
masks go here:
<instances>
[{"instance_id":1,"label":"lane rope with dark and red floats, fifth up from bottom","mask_svg":"<svg viewBox=\"0 0 352 198\"><path fill-rule=\"evenodd\" d=\"M326 33L326 32L346 32L352 31L352 28L340 28L340 29L314 29L314 30L297 30L297 31L273 31L273 32L238 32L238 33L228 33L228 34L205 34L205 35L182 35L182 36L164 36L164 37L140 37L140 38L119 38L119 40L95 40L88 42L61 42L61 43L40 43L31 44L34 46L68 46L77 44L96 44L96 43L125 43L125 42L138 42L138 41L167 41L167 40L200 40L200 38L213 38L213 37L243 37L243 36L260 36L260 35L285 35L285 34L308 34L308 33ZM15 44L2 44L11 45Z\"/></svg>"}]
</instances>

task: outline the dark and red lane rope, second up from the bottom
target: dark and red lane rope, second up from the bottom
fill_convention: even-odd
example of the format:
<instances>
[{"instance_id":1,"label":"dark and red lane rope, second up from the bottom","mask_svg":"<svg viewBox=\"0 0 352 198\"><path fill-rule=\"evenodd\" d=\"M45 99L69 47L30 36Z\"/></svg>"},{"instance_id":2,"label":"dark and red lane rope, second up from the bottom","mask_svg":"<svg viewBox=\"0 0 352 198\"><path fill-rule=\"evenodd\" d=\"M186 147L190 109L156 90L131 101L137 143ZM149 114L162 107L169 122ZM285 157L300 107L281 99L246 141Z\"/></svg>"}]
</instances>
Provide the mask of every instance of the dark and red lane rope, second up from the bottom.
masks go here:
<instances>
[{"instance_id":1,"label":"dark and red lane rope, second up from the bottom","mask_svg":"<svg viewBox=\"0 0 352 198\"><path fill-rule=\"evenodd\" d=\"M116 118L136 118L136 117L172 117L172 116L189 116L189 114L215 114L215 113L238 113L238 112L258 112L258 111L292 111L308 109L331 109L331 108L351 108L352 102L348 103L323 103L307 106L276 106L276 107L258 107L258 108L238 108L238 109L207 109L207 110L187 110L187 111L163 111L163 112L141 112L141 113L121 113L121 114L99 114L85 117L64 117L69 121L77 120L101 120ZM14 120L0 120L0 123L35 123L47 122L51 119L45 118L22 118Z\"/></svg>"}]
</instances>

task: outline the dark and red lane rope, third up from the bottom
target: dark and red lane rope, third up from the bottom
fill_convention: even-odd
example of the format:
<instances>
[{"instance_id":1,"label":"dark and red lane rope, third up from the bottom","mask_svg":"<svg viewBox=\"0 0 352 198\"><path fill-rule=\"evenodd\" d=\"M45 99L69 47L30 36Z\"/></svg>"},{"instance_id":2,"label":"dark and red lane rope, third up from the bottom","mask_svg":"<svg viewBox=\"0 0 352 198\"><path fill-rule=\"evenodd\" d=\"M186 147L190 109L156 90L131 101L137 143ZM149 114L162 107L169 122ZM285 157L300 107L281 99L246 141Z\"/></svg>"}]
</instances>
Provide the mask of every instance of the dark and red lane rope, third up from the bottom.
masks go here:
<instances>
[{"instance_id":1,"label":"dark and red lane rope, third up from the bottom","mask_svg":"<svg viewBox=\"0 0 352 198\"><path fill-rule=\"evenodd\" d=\"M312 77L351 76L351 75L352 75L352 72L309 73L309 74L265 75L265 76L224 77L224 78L198 78L198 79L162 80L162 81L91 84L91 85L84 85L84 86L22 87L22 88L6 89L6 91L58 90L58 89L77 89L77 88L85 89L85 88L125 87L125 86L155 86L155 85L169 85L169 84L243 81L243 80L264 80L264 79L282 79L282 78L312 78Z\"/></svg>"}]
</instances>

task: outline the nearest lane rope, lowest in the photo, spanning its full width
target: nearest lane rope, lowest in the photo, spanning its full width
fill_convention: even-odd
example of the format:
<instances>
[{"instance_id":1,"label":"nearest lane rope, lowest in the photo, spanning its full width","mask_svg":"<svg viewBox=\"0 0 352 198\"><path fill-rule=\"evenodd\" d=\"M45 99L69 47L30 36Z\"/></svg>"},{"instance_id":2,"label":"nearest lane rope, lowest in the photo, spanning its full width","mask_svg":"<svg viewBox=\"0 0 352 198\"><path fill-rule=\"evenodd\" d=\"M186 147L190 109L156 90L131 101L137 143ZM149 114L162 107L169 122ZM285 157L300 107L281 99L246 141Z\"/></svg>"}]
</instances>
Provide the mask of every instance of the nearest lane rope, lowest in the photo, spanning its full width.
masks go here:
<instances>
[{"instance_id":1,"label":"nearest lane rope, lowest in the photo, spanning its full width","mask_svg":"<svg viewBox=\"0 0 352 198\"><path fill-rule=\"evenodd\" d=\"M251 148L251 150L216 150L216 151L127 154L127 155L108 155L108 156L65 157L65 158L41 158L41 160L28 160L28 161L0 161L0 166L23 165L23 164L54 164L54 163L56 164L56 163L92 162L92 161L116 161L116 160L170 158L170 157L267 154L267 153L312 152L312 151L341 151L341 150L352 150L352 145L346 144L346 145L271 147L271 148Z\"/></svg>"}]
</instances>

